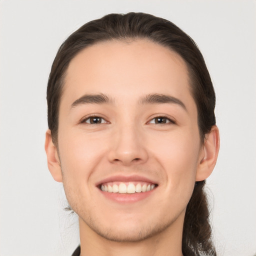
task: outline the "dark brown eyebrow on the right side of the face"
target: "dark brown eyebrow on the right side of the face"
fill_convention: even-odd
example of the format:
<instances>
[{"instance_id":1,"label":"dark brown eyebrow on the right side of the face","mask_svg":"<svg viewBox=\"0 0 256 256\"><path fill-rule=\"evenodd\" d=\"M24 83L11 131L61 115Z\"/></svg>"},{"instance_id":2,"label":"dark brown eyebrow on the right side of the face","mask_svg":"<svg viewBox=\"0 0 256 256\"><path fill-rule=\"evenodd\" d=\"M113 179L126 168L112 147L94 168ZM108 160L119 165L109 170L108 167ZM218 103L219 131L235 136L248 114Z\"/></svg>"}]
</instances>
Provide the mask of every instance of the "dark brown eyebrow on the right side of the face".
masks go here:
<instances>
[{"instance_id":1,"label":"dark brown eyebrow on the right side of the face","mask_svg":"<svg viewBox=\"0 0 256 256\"><path fill-rule=\"evenodd\" d=\"M140 99L140 104L163 104L163 103L174 103L180 105L184 110L187 111L185 104L178 98L175 98L166 94L148 94Z\"/></svg>"}]
</instances>

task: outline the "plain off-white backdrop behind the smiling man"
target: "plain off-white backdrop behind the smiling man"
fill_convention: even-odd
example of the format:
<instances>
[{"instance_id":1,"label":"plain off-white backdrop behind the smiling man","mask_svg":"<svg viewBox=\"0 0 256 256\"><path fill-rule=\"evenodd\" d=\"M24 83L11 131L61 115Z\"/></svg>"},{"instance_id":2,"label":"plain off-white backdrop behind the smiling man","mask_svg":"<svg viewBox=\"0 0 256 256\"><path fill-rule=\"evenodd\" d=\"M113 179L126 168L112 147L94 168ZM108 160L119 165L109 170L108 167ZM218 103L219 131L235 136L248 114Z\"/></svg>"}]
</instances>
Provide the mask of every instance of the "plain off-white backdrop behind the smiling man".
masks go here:
<instances>
[{"instance_id":1,"label":"plain off-white backdrop behind the smiling man","mask_svg":"<svg viewBox=\"0 0 256 256\"><path fill-rule=\"evenodd\" d=\"M255 0L0 0L0 256L69 256L79 243L46 165L46 84L61 42L110 12L167 18L198 44L221 147L207 180L218 255L256 252Z\"/></svg>"}]
</instances>

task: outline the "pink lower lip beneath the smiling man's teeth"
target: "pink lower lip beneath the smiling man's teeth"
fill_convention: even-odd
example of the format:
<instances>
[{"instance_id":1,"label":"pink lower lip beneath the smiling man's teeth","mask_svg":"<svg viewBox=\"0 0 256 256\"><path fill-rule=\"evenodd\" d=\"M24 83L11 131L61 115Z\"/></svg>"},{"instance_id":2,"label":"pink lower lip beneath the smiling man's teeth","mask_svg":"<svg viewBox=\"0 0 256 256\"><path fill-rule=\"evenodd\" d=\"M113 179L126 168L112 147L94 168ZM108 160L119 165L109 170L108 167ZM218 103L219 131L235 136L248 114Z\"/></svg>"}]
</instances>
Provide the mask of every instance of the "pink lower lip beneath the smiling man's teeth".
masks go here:
<instances>
[{"instance_id":1,"label":"pink lower lip beneath the smiling man's teeth","mask_svg":"<svg viewBox=\"0 0 256 256\"><path fill-rule=\"evenodd\" d=\"M102 191L101 189L99 189L99 191L108 199L111 199L113 201L116 202L120 202L120 203L131 203L131 202L137 202L140 201L146 197L148 197L149 195L151 195L154 190L156 188L154 188L153 190L150 191L146 191L146 192L140 192L140 193L110 193L110 192L105 192Z\"/></svg>"}]
</instances>

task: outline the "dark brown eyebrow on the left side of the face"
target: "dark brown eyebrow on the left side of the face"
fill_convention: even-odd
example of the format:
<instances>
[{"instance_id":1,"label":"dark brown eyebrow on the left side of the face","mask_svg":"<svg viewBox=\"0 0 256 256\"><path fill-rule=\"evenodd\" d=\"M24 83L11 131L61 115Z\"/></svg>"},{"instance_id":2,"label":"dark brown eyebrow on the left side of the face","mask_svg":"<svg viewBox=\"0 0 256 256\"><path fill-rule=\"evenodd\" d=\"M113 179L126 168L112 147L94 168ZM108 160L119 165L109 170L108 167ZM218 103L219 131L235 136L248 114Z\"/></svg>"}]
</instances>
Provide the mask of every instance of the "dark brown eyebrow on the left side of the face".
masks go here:
<instances>
[{"instance_id":1,"label":"dark brown eyebrow on the left side of the face","mask_svg":"<svg viewBox=\"0 0 256 256\"><path fill-rule=\"evenodd\" d=\"M113 104L113 102L113 99L103 93L84 94L72 103L71 108L81 104Z\"/></svg>"}]
</instances>

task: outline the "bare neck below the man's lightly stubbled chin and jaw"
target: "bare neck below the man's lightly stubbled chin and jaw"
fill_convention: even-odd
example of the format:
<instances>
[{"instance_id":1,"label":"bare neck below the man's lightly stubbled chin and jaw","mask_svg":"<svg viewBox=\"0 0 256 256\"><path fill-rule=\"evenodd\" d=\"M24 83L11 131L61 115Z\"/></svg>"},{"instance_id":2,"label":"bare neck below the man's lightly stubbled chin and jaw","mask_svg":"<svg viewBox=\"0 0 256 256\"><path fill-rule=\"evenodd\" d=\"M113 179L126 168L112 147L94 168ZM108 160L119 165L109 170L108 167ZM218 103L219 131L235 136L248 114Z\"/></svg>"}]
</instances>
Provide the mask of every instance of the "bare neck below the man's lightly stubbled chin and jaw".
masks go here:
<instances>
[{"instance_id":1,"label":"bare neck below the man's lightly stubbled chin and jaw","mask_svg":"<svg viewBox=\"0 0 256 256\"><path fill-rule=\"evenodd\" d=\"M80 256L182 256L183 220L184 216L181 214L171 225L149 238L136 242L119 242L98 235L79 218Z\"/></svg>"}]
</instances>

